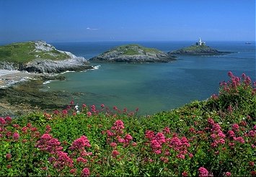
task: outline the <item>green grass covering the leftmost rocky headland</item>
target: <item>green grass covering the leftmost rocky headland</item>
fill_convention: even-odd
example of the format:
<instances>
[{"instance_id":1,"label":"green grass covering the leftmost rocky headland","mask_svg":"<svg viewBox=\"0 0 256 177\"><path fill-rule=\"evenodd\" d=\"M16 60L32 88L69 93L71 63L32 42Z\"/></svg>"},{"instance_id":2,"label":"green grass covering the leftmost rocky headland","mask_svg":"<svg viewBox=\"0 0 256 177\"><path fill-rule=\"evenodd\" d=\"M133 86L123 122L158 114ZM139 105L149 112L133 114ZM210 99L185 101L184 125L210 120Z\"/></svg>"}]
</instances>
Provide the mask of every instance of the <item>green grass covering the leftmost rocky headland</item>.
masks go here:
<instances>
[{"instance_id":1,"label":"green grass covering the leftmost rocky headland","mask_svg":"<svg viewBox=\"0 0 256 177\"><path fill-rule=\"evenodd\" d=\"M34 42L19 42L0 46L0 61L24 63L36 58L50 60L63 60L69 58L69 55L60 53L58 50L52 50L50 52L35 52L34 50Z\"/></svg>"}]
</instances>

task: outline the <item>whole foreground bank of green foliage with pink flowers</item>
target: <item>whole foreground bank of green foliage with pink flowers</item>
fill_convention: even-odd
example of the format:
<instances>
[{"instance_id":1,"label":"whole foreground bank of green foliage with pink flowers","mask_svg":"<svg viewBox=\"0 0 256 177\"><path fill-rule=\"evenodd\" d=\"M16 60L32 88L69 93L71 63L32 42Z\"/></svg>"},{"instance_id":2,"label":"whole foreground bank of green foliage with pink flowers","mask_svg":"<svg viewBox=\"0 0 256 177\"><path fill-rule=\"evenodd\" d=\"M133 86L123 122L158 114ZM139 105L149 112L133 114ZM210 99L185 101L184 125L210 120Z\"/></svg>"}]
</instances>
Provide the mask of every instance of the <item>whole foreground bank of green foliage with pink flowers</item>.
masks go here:
<instances>
[{"instance_id":1,"label":"whole foreground bank of green foliage with pink flowers","mask_svg":"<svg viewBox=\"0 0 256 177\"><path fill-rule=\"evenodd\" d=\"M147 117L74 101L0 117L0 176L255 176L256 82L229 77L206 101Z\"/></svg>"}]
</instances>

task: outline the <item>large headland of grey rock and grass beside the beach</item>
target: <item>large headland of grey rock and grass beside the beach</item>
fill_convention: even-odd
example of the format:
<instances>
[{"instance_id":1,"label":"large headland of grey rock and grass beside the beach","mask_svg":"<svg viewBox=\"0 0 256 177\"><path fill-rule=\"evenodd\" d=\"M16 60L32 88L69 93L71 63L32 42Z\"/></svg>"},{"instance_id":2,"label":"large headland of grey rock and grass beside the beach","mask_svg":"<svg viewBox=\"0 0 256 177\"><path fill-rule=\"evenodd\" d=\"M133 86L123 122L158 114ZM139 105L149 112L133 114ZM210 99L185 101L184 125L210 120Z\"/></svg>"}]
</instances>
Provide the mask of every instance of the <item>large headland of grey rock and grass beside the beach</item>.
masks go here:
<instances>
[{"instance_id":1,"label":"large headland of grey rock and grass beside the beach","mask_svg":"<svg viewBox=\"0 0 256 177\"><path fill-rule=\"evenodd\" d=\"M0 46L0 69L30 73L61 73L91 68L84 58L57 50L53 45L41 40Z\"/></svg>"}]
</instances>

